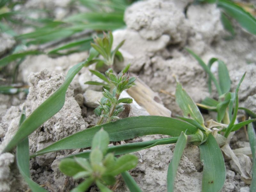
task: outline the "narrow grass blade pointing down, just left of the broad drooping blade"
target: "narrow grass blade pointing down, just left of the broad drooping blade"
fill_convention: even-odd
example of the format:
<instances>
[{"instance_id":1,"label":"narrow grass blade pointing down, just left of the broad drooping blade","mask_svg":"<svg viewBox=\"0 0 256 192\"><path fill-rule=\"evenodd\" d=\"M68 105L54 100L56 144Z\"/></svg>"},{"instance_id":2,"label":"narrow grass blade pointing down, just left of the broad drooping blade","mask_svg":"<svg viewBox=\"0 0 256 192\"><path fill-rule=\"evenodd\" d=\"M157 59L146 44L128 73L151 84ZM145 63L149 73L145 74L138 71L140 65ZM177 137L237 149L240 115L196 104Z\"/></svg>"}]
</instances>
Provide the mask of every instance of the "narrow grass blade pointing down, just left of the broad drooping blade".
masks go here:
<instances>
[{"instance_id":1,"label":"narrow grass blade pointing down, just left of the broad drooping blade","mask_svg":"<svg viewBox=\"0 0 256 192\"><path fill-rule=\"evenodd\" d=\"M175 176L179 167L180 158L182 156L182 153L186 145L187 145L187 136L183 132L181 132L180 137L174 148L172 161L168 166L168 171L167 171L167 191L168 192L173 192L174 190Z\"/></svg>"}]
</instances>

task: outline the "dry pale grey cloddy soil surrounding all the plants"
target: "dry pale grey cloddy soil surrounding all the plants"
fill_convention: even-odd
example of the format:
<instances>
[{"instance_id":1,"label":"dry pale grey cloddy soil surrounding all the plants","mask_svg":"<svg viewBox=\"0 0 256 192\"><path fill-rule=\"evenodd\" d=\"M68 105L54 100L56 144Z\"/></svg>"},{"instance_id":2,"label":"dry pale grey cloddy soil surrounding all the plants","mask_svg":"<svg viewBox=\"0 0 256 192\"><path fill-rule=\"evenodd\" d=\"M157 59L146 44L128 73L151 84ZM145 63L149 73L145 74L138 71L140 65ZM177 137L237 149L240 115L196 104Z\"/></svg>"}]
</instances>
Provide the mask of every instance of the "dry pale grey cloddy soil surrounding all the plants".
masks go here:
<instances>
[{"instance_id":1,"label":"dry pale grey cloddy soil surrounding all the plants","mask_svg":"<svg viewBox=\"0 0 256 192\"><path fill-rule=\"evenodd\" d=\"M234 21L237 25L236 37L229 41L224 40L227 32L220 23L220 10L209 4L187 6L189 2L191 1L148 0L130 6L125 12L127 28L117 30L113 34L115 45L126 39L120 49L125 60L124 63L116 64L116 70L130 62L131 72L138 74L152 90L159 93L164 106L170 109L174 116L180 114L180 109L172 96L175 93L173 74L195 102L209 96L206 74L197 61L184 50L184 47L189 47L205 62L212 57L225 61L230 71L232 91L246 71L239 91L239 102L240 106L256 112L256 36L241 29ZM43 3L49 8L59 6L58 3L52 5L51 1ZM31 0L26 6L35 4ZM55 17L61 17L61 13L65 15L67 10L65 4L62 4L55 9ZM12 39L8 42L12 42ZM27 97L23 93L14 96L0 95L0 149L17 130L23 103L26 103L29 115L60 86L68 69L86 59L87 55L87 52L82 52L58 58L50 58L47 55L31 56L21 64L18 78L30 85L29 94ZM215 72L216 67L213 65L212 71ZM97 100L101 97L101 88L84 85L84 82L90 80L100 81L90 74L88 68L82 69L68 89L64 107L29 137L31 152L86 129L89 124L95 124L97 118L93 115L93 108L97 106ZM137 114L148 114L143 108L137 107L136 110L139 111ZM206 118L213 116L206 115ZM161 137L146 136L143 139ZM234 148L248 145L243 130L234 135ZM139 157L139 164L130 172L143 191L166 191L166 174L173 148L174 145L156 146L135 153ZM32 179L39 184L46 184L49 191L69 191L77 182L60 173L58 159L77 152L79 149L31 159ZM222 191L249 191L248 185L240 178L241 172L230 160L226 161L226 168L226 183ZM1 192L25 191L28 188L17 172L13 155L7 153L0 156ZM199 149L188 145L180 161L175 191L200 191L201 180L202 164ZM98 190L92 187L90 191ZM128 191L122 180L116 191Z\"/></svg>"}]
</instances>

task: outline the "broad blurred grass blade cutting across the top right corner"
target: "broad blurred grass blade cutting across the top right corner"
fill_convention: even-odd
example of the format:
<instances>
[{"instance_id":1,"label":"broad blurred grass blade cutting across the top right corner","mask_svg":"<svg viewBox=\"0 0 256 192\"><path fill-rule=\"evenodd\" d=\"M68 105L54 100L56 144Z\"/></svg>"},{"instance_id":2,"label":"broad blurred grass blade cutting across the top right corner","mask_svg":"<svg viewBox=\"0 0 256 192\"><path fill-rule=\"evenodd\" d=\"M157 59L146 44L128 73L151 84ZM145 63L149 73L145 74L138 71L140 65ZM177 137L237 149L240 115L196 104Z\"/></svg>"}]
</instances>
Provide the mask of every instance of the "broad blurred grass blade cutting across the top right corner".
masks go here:
<instances>
[{"instance_id":1,"label":"broad blurred grass blade cutting across the top right corner","mask_svg":"<svg viewBox=\"0 0 256 192\"><path fill-rule=\"evenodd\" d=\"M256 19L249 12L227 0L219 0L217 5L234 18L244 29L256 35Z\"/></svg>"}]
</instances>

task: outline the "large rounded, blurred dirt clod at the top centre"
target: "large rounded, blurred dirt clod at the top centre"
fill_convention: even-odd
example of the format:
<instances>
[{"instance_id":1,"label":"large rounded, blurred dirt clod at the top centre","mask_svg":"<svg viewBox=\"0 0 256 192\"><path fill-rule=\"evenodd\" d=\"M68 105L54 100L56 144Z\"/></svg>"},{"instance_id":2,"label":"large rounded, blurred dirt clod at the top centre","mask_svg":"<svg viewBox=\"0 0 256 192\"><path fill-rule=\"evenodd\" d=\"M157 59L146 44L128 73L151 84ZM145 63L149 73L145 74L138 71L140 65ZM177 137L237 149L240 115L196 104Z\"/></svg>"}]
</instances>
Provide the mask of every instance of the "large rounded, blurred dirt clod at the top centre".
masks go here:
<instances>
[{"instance_id":1,"label":"large rounded, blurred dirt clod at the top centre","mask_svg":"<svg viewBox=\"0 0 256 192\"><path fill-rule=\"evenodd\" d=\"M145 39L155 40L167 34L171 44L181 45L187 39L188 23L185 15L170 1L136 2L125 11L124 21L127 28L139 31Z\"/></svg>"}]
</instances>

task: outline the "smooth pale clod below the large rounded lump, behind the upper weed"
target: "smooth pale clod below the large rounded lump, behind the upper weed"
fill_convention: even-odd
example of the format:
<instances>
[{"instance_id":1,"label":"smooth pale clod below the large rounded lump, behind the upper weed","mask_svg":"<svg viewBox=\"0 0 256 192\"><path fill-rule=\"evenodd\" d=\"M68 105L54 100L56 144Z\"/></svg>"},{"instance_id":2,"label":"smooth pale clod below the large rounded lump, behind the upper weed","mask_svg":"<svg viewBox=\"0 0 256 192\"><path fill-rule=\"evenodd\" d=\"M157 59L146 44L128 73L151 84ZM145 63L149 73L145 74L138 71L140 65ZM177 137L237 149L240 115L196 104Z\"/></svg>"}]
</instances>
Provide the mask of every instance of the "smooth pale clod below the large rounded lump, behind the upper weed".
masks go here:
<instances>
[{"instance_id":1,"label":"smooth pale clod below the large rounded lump, behind the upper weed","mask_svg":"<svg viewBox=\"0 0 256 192\"><path fill-rule=\"evenodd\" d=\"M120 29L113 32L113 47L116 47L125 39L119 51L123 54L124 62L116 62L116 71L121 71L128 63L131 63L130 72L139 72L141 68L150 64L150 57L155 52L164 49L170 37L162 35L156 40L146 40L139 32L131 29Z\"/></svg>"}]
</instances>

